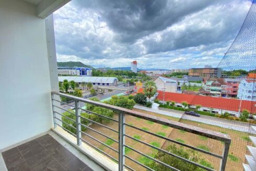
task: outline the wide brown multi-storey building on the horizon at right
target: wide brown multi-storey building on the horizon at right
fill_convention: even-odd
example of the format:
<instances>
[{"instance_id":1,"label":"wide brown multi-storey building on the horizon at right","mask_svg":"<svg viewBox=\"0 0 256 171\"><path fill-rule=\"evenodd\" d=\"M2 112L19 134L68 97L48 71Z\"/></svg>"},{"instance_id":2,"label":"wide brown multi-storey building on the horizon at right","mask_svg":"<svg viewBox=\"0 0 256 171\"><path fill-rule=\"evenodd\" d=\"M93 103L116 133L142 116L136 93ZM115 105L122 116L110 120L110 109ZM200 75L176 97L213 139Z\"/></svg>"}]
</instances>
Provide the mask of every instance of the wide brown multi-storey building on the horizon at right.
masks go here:
<instances>
[{"instance_id":1,"label":"wide brown multi-storey building on the horizon at right","mask_svg":"<svg viewBox=\"0 0 256 171\"><path fill-rule=\"evenodd\" d=\"M220 78L221 68L191 68L188 70L188 75L206 78Z\"/></svg>"}]
</instances>

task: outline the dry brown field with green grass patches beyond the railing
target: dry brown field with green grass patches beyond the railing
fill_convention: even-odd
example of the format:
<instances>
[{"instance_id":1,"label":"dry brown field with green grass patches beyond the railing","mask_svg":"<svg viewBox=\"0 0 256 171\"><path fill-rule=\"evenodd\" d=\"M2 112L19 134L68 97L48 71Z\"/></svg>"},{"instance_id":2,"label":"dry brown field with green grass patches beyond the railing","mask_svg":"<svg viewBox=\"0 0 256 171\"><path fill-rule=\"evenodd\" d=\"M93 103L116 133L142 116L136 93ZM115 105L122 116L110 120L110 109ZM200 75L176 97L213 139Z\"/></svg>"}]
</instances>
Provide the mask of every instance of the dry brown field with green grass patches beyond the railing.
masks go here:
<instances>
[{"instance_id":1,"label":"dry brown field with green grass patches beyond the railing","mask_svg":"<svg viewBox=\"0 0 256 171\"><path fill-rule=\"evenodd\" d=\"M143 111L143 110L137 110L137 109L134 109L134 110L143 112L143 113L147 113L147 114L152 114L152 115L158 116L158 117L163 117L165 119L169 119L169 120L173 120L173 121L177 121L177 122L182 122L182 123L186 123L189 125L202 127L204 129L209 129L212 131L218 131L221 133L229 134L232 139L232 143L230 146L230 151L229 151L229 156L228 156L227 170L242 170L242 163L244 162L244 154L247 154L246 146L248 145L248 143L250 144L250 141L248 140L247 133L233 131L233 130L229 130L229 129L223 129L218 126L212 126L212 125L203 124L203 123L199 123L199 122L178 119L176 117L161 115L161 114L147 112L147 111ZM114 118L118 119L118 115L114 115ZM172 138L173 140L176 140L178 142L186 143L186 144L204 149L206 151L214 152L216 154L220 154L220 155L222 154L223 144L219 141L215 141L210 138L207 138L204 136L199 136L199 135L192 134L192 133L188 133L185 131L176 130L176 129L173 129L168 126L164 126L164 125L157 124L154 122L146 121L146 120L140 119L138 117L130 116L130 115L126 115L125 121L129 125L139 127L143 130L150 131L150 132L153 132L158 135ZM106 123L105 125L112 127L115 130L118 130L117 122L111 121L109 123ZM97 124L93 124L90 127L92 127L93 129L95 129L99 132L102 132L103 134L106 134L106 135L114 138L115 140L118 140L118 134L113 131L110 131L102 126L97 125ZM113 147L114 149L118 149L118 143L115 143L114 141L112 141L98 133L95 133L91 130L87 130L86 133L90 134L93 137L97 138L98 140L104 142L105 145L109 145L109 146ZM148 144L151 144L153 146L160 147L160 148L165 148L166 146L168 146L170 144L170 142L165 141L162 138L158 138L153 135L144 133L142 131L135 130L129 126L125 126L125 133L127 135L134 137L136 140L141 140L143 142L146 142ZM114 152L112 149L98 143L97 141L92 140L90 137L88 137L86 135L82 135L82 137L84 140L89 141L93 145L99 147L104 152L106 152L109 155L118 159L118 153ZM151 156L153 153L156 152L156 149L154 149L152 147L145 146L144 144L137 142L135 140L132 140L131 138L128 138L128 137L125 138L125 144L129 145L130 147L135 148L138 151L141 151L142 153L147 154L149 156ZM143 157L142 155L132 151L132 149L127 148L127 147L125 148L125 154L132 157L133 159L136 159L137 161L139 161L143 164L146 164L151 161L150 159ZM205 161L207 163L210 163L215 169L217 169L217 170L219 169L220 160L218 158L212 157L212 156L209 156L206 154L201 154L201 153L200 153L200 155L202 157L204 157ZM143 167L137 165L136 163L130 161L127 158L125 159L125 164L132 167L135 170L145 170Z\"/></svg>"}]
</instances>

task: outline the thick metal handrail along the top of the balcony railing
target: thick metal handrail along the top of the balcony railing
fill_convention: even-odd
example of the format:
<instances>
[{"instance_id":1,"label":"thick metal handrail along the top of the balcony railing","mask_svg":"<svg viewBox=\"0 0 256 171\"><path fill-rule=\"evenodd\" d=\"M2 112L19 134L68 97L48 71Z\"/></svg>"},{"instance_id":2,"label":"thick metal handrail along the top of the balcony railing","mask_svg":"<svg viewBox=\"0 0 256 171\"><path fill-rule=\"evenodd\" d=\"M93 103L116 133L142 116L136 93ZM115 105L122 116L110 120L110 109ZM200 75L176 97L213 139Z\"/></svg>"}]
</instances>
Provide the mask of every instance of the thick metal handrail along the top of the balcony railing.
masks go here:
<instances>
[{"instance_id":1,"label":"thick metal handrail along the top of the balcony railing","mask_svg":"<svg viewBox=\"0 0 256 171\"><path fill-rule=\"evenodd\" d=\"M184 123L175 122L175 121L172 121L172 120L167 120L167 119L164 119L164 118L161 118L161 117L157 117L157 116L153 116L153 115L150 115L150 114L145 114L145 113L141 113L141 112L137 112L137 111L133 111L133 110L129 110L129 109L124 109L124 108L121 108L121 107L118 107L118 106L105 104L105 103L102 103L102 102L96 102L96 101L89 100L89 99L74 97L73 95L68 95L68 94L59 93L59 92L55 92L55 91L52 91L51 93L61 95L63 97L67 97L69 99L78 100L78 101L81 101L81 102L84 102L84 103L97 105L97 106L100 106L102 108L110 109L110 110L113 110L113 111L123 112L125 114L129 114L129 115L132 115L132 116L135 116L135 117L140 117L140 118L148 120L148 121L152 121L152 122L159 123L159 124L162 124L162 125L170 126L170 127L175 128L175 129L178 129L178 130L184 130L184 131L194 133L194 134L197 134L197 135L206 136L206 137L212 138L214 140L218 140L218 141L222 141L222 142L226 142L226 143L231 143L231 138L227 134L219 133L219 132L216 132L216 131L210 131L210 130L207 130L207 129L202 129L202 128L197 127L197 126L187 125L187 124L184 124Z\"/></svg>"}]
</instances>

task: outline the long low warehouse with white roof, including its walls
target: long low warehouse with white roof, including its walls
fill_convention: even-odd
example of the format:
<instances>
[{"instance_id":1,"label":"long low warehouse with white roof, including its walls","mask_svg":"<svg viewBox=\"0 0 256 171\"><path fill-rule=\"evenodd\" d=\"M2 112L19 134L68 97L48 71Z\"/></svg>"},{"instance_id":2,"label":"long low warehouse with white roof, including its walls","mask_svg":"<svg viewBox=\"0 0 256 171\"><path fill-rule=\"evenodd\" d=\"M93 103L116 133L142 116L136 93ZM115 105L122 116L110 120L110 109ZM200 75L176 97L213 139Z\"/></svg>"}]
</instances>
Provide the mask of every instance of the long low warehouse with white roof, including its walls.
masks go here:
<instances>
[{"instance_id":1,"label":"long low warehouse with white roof, including its walls","mask_svg":"<svg viewBox=\"0 0 256 171\"><path fill-rule=\"evenodd\" d=\"M116 77L75 77L75 76L59 76L59 82L63 80L74 81L79 85L81 82L91 82L93 86L116 86L118 79Z\"/></svg>"}]
</instances>

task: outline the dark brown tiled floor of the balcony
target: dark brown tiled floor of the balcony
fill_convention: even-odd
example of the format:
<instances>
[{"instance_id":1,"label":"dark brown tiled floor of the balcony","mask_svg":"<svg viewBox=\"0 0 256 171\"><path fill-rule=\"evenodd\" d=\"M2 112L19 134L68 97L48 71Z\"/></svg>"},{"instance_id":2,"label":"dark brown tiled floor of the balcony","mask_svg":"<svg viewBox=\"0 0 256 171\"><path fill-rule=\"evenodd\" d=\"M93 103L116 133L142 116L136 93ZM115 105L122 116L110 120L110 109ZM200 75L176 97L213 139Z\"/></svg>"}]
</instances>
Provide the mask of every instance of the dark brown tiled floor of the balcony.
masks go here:
<instances>
[{"instance_id":1,"label":"dark brown tiled floor of the balcony","mask_svg":"<svg viewBox=\"0 0 256 171\"><path fill-rule=\"evenodd\" d=\"M92 170L49 134L2 153L8 170Z\"/></svg>"}]
</instances>

